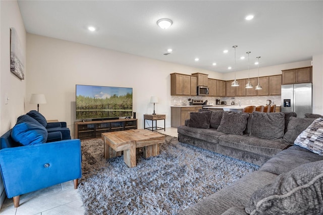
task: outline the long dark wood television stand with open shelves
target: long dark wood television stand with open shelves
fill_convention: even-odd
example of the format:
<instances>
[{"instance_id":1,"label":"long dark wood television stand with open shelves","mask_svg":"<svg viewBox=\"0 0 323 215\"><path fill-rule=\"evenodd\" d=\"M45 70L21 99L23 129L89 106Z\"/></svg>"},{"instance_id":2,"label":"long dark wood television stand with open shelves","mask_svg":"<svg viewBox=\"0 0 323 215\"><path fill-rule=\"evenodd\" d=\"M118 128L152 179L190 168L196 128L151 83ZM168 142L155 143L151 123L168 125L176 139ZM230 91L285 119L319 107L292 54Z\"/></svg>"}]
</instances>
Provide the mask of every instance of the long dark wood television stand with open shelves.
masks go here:
<instances>
[{"instance_id":1,"label":"long dark wood television stand with open shelves","mask_svg":"<svg viewBox=\"0 0 323 215\"><path fill-rule=\"evenodd\" d=\"M75 139L101 138L101 133L137 129L137 119L116 119L74 123Z\"/></svg>"}]
</instances>

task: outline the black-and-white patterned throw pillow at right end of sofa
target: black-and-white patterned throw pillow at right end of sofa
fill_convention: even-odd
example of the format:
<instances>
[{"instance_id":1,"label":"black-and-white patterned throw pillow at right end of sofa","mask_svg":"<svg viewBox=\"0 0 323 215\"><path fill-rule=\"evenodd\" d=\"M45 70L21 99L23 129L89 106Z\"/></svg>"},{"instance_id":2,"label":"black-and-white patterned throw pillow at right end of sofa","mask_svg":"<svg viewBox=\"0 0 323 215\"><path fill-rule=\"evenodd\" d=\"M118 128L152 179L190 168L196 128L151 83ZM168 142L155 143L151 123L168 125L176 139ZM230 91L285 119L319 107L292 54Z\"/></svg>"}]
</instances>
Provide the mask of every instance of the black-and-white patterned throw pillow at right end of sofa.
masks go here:
<instances>
[{"instance_id":1,"label":"black-and-white patterned throw pillow at right end of sofa","mask_svg":"<svg viewBox=\"0 0 323 215\"><path fill-rule=\"evenodd\" d=\"M295 145L323 155L323 118L317 118L296 138Z\"/></svg>"}]
</instances>

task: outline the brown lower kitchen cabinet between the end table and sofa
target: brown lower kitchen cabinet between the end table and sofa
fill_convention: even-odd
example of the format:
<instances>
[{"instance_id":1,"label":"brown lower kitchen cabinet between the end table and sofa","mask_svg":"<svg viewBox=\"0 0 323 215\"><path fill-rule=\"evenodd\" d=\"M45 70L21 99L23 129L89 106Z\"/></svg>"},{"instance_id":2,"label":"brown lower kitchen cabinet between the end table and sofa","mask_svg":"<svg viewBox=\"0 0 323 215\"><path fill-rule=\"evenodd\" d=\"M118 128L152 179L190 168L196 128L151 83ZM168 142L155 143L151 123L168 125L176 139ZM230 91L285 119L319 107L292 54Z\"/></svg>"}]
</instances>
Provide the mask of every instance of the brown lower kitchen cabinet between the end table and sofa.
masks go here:
<instances>
[{"instance_id":1,"label":"brown lower kitchen cabinet between the end table and sofa","mask_svg":"<svg viewBox=\"0 0 323 215\"><path fill-rule=\"evenodd\" d=\"M198 112L201 108L202 106L171 107L171 126L177 128L185 125L185 120L190 119L190 113Z\"/></svg>"}]
</instances>

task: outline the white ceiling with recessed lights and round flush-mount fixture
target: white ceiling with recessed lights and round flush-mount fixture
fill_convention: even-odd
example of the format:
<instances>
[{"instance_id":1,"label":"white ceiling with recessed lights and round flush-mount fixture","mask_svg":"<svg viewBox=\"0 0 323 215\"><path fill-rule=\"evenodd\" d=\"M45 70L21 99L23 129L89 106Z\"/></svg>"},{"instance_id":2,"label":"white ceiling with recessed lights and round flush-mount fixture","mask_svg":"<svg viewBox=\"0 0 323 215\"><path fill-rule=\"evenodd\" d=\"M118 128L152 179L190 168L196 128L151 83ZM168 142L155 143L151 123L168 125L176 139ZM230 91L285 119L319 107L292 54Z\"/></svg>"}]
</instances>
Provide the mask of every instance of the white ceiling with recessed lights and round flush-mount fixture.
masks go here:
<instances>
[{"instance_id":1,"label":"white ceiling with recessed lights and round flush-mount fixture","mask_svg":"<svg viewBox=\"0 0 323 215\"><path fill-rule=\"evenodd\" d=\"M323 1L18 4L28 33L221 73L248 69L247 51L251 51L250 68L256 67L257 56L261 56L259 67L267 67L311 60L323 53ZM249 14L254 19L247 21L244 18ZM159 28L156 22L161 18L171 19L173 25ZM90 32L88 26L96 30ZM233 45L238 45L236 67ZM168 48L172 53L164 55ZM225 49L229 52L224 53Z\"/></svg>"}]
</instances>

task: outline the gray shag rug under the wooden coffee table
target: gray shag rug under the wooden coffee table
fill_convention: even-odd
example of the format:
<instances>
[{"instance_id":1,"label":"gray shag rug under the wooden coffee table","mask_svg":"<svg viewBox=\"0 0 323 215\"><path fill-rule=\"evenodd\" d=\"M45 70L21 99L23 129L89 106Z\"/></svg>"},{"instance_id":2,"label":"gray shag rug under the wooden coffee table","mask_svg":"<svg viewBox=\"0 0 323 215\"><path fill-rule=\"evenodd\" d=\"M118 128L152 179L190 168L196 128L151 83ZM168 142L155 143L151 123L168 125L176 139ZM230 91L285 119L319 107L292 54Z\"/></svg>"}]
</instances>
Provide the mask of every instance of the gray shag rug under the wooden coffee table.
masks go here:
<instances>
[{"instance_id":1,"label":"gray shag rug under the wooden coffee table","mask_svg":"<svg viewBox=\"0 0 323 215\"><path fill-rule=\"evenodd\" d=\"M79 184L86 214L177 214L259 167L166 136L160 154L129 168L104 159L101 139L83 140Z\"/></svg>"}]
</instances>

